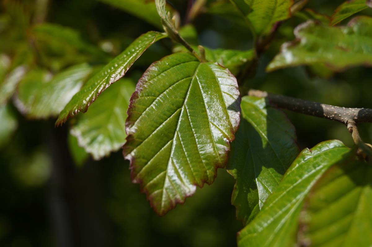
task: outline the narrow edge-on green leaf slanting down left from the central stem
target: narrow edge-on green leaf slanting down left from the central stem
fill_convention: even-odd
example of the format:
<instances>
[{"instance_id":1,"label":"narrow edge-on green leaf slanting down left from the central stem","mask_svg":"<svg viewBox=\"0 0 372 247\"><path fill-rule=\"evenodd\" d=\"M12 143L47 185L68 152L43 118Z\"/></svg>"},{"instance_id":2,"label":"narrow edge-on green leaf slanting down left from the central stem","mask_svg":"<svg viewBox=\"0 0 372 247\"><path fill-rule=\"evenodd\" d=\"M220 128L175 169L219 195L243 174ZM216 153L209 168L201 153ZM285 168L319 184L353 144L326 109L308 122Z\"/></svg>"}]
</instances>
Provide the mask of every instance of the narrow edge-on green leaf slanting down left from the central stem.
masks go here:
<instances>
[{"instance_id":1,"label":"narrow edge-on green leaf slanting down left from the central stem","mask_svg":"<svg viewBox=\"0 0 372 247\"><path fill-rule=\"evenodd\" d=\"M151 31L142 34L134 40L124 52L115 57L115 59L87 81L83 88L73 96L71 101L68 102L61 111L55 124L61 125L78 112L86 112L90 104L96 100L100 93L112 83L122 78L135 60L137 60L148 47L164 37L166 37L166 34Z\"/></svg>"}]
</instances>

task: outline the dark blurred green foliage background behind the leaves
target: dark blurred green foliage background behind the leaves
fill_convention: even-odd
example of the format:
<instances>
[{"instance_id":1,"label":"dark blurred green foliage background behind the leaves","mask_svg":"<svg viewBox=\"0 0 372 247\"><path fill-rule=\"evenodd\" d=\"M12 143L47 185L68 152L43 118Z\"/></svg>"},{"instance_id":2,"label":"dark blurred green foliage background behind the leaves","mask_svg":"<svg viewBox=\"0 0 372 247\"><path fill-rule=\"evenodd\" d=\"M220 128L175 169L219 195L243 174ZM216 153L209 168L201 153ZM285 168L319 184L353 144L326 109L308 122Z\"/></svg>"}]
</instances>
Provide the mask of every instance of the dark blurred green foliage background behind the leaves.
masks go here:
<instances>
[{"instance_id":1,"label":"dark blurred green foliage background behind the leaves","mask_svg":"<svg viewBox=\"0 0 372 247\"><path fill-rule=\"evenodd\" d=\"M6 56L0 56L0 78L19 65L37 65L51 73L81 62L102 65L140 34L159 30L106 2L110 1L1 1L0 53ZM192 1L168 2L185 23ZM198 43L209 48L250 49L249 29L212 11L220 2L208 0L208 8L193 20ZM306 7L330 16L342 2L310 0ZM371 14L371 9L363 12ZM35 40L31 30L37 33L35 23L44 19L61 30L58 34L53 33L55 29L42 30ZM320 65L265 72L280 45L294 39L294 27L304 21L303 16L294 16L282 23L260 57L256 73L246 79L243 92L255 88L332 105L372 108L370 68L332 73ZM172 47L169 40L151 46L126 77L137 81L150 63L169 55ZM0 246L236 245L242 224L235 220L230 203L234 179L224 169L219 169L213 185L198 189L185 205L158 217L139 186L131 183L129 164L120 151L93 161L68 135L68 124L55 129L53 119L27 119L15 104L11 101L0 109L0 115L7 116L0 123ZM353 144L347 129L337 122L292 112L288 117L301 149L326 139ZM359 128L362 138L371 143L372 126Z\"/></svg>"}]
</instances>

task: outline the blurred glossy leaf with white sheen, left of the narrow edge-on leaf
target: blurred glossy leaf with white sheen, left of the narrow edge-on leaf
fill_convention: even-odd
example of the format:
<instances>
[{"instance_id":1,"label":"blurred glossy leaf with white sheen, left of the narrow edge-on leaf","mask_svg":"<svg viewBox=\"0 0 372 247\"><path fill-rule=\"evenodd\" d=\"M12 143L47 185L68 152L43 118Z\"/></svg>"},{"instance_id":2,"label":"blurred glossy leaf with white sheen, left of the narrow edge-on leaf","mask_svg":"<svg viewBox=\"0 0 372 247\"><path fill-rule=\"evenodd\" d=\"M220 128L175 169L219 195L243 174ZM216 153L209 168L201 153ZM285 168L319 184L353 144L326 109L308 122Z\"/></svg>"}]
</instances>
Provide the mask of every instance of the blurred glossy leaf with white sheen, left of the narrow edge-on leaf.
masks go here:
<instances>
[{"instance_id":1,"label":"blurred glossy leaf with white sheen, left of the narrow edge-on leaf","mask_svg":"<svg viewBox=\"0 0 372 247\"><path fill-rule=\"evenodd\" d=\"M93 68L86 63L72 66L53 78L45 70L33 70L19 83L17 108L29 118L58 116L92 72Z\"/></svg>"}]
</instances>

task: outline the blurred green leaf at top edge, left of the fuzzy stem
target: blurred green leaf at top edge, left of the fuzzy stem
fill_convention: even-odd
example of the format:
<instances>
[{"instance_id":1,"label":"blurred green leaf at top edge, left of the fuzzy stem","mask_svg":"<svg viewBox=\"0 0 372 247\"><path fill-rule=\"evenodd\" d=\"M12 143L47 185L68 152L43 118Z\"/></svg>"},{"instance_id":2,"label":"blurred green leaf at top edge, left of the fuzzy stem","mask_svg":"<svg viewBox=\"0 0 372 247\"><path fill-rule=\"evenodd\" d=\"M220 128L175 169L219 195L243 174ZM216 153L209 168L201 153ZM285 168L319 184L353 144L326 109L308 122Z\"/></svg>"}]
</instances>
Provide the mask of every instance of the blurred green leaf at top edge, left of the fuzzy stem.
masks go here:
<instances>
[{"instance_id":1,"label":"blurred green leaf at top edge, left of the fuzzy stem","mask_svg":"<svg viewBox=\"0 0 372 247\"><path fill-rule=\"evenodd\" d=\"M103 3L118 7L146 22L163 29L160 16L156 10L154 1L148 0L100 0Z\"/></svg>"}]
</instances>

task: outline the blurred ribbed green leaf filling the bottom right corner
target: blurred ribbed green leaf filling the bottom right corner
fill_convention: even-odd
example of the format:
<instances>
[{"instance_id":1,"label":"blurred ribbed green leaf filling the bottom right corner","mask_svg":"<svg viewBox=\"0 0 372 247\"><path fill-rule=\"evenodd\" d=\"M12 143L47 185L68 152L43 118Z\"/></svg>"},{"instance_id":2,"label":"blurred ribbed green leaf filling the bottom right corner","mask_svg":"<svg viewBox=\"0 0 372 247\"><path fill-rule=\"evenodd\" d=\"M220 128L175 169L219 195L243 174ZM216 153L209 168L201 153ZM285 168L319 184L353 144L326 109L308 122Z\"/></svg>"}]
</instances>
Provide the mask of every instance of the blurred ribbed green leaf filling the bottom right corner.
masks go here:
<instances>
[{"instance_id":1,"label":"blurred ribbed green leaf filling the bottom right corner","mask_svg":"<svg viewBox=\"0 0 372 247\"><path fill-rule=\"evenodd\" d=\"M352 161L331 167L305 201L300 246L370 247L371 233L371 164Z\"/></svg>"}]
</instances>

